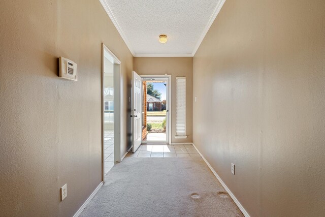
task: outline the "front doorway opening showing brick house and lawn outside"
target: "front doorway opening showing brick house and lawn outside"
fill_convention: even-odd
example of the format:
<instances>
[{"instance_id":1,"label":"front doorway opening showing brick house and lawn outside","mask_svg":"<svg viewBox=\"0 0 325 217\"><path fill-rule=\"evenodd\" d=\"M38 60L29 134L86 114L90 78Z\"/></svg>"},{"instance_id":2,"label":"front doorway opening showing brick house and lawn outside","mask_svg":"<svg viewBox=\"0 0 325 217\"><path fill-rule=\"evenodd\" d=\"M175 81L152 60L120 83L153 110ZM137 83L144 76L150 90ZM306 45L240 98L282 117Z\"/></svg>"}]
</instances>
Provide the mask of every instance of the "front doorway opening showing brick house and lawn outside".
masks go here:
<instances>
[{"instance_id":1,"label":"front doorway opening showing brick house and lawn outside","mask_svg":"<svg viewBox=\"0 0 325 217\"><path fill-rule=\"evenodd\" d=\"M142 143L169 144L170 78L141 77Z\"/></svg>"}]
</instances>

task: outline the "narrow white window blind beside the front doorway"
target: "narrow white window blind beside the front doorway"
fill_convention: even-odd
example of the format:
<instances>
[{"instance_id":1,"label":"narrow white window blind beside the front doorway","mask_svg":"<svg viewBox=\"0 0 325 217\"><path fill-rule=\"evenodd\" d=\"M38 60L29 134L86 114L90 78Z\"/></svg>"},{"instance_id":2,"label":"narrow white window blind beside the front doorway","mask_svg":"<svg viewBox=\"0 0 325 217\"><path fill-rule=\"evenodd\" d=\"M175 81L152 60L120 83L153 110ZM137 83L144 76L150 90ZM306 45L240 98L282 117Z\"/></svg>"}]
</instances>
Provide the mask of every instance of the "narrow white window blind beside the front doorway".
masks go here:
<instances>
[{"instance_id":1,"label":"narrow white window blind beside the front doorway","mask_svg":"<svg viewBox=\"0 0 325 217\"><path fill-rule=\"evenodd\" d=\"M186 77L176 77L176 136L186 138Z\"/></svg>"}]
</instances>

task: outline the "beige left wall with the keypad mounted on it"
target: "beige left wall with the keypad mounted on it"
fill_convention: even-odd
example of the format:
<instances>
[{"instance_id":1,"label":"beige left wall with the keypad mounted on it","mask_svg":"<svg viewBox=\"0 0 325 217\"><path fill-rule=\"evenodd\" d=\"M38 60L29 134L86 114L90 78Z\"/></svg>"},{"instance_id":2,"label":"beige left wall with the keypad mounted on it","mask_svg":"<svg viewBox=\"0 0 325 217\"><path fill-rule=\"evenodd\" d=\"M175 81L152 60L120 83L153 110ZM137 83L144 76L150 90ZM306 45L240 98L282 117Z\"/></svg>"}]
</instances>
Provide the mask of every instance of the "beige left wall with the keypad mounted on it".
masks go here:
<instances>
[{"instance_id":1,"label":"beige left wall with the keypad mounted on it","mask_svg":"<svg viewBox=\"0 0 325 217\"><path fill-rule=\"evenodd\" d=\"M102 42L121 60L124 152L133 56L99 1L5 0L0 14L0 215L72 216L102 181ZM57 76L59 56L78 82Z\"/></svg>"}]
</instances>

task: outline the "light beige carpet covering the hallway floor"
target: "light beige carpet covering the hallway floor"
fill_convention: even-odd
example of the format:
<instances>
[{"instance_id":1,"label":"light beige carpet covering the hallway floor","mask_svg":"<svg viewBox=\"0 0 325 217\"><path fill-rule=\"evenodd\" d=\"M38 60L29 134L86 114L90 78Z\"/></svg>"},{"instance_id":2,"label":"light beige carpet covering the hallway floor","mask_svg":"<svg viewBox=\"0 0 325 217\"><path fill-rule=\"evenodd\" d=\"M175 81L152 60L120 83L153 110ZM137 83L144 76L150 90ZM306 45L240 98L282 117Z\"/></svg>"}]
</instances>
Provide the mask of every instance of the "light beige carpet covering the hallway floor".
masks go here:
<instances>
[{"instance_id":1,"label":"light beige carpet covering the hallway floor","mask_svg":"<svg viewBox=\"0 0 325 217\"><path fill-rule=\"evenodd\" d=\"M243 216L202 158L125 158L80 216Z\"/></svg>"}]
</instances>

